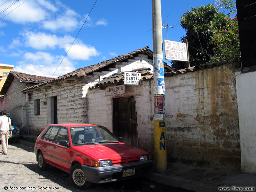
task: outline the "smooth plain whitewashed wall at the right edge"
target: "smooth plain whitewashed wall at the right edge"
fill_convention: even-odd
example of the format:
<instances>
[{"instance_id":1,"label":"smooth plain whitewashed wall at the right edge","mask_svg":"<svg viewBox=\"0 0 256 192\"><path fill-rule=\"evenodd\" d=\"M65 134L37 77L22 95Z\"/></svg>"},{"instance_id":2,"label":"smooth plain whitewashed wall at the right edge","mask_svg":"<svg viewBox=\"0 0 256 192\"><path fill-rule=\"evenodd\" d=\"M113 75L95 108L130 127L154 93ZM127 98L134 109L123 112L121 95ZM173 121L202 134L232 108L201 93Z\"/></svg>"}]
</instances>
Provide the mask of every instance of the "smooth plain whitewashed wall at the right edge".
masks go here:
<instances>
[{"instance_id":1,"label":"smooth plain whitewashed wall at the right edge","mask_svg":"<svg viewBox=\"0 0 256 192\"><path fill-rule=\"evenodd\" d=\"M237 102L241 140L241 166L256 173L256 72L237 75Z\"/></svg>"}]
</instances>

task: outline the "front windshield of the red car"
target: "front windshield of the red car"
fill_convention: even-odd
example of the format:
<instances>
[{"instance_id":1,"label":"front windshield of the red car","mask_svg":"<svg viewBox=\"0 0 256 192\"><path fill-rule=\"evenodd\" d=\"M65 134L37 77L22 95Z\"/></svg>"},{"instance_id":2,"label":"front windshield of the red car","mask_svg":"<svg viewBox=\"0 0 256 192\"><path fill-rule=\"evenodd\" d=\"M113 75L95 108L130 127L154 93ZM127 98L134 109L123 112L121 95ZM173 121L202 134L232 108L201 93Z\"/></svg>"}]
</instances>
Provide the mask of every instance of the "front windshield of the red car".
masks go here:
<instances>
[{"instance_id":1,"label":"front windshield of the red car","mask_svg":"<svg viewBox=\"0 0 256 192\"><path fill-rule=\"evenodd\" d=\"M107 128L101 126L71 127L72 144L119 143Z\"/></svg>"}]
</instances>

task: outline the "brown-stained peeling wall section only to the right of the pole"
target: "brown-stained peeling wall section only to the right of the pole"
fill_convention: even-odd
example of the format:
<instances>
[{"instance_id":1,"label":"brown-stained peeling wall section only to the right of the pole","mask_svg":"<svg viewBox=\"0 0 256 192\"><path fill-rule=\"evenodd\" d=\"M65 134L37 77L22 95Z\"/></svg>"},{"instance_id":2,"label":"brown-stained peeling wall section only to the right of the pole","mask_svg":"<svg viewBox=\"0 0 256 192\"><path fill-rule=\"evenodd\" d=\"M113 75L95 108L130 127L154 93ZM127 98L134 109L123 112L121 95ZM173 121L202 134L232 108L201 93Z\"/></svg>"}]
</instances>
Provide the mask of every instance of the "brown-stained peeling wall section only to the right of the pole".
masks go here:
<instances>
[{"instance_id":1,"label":"brown-stained peeling wall section only to the right of the pole","mask_svg":"<svg viewBox=\"0 0 256 192\"><path fill-rule=\"evenodd\" d=\"M240 165L236 70L226 64L165 78L170 159Z\"/></svg>"}]
</instances>

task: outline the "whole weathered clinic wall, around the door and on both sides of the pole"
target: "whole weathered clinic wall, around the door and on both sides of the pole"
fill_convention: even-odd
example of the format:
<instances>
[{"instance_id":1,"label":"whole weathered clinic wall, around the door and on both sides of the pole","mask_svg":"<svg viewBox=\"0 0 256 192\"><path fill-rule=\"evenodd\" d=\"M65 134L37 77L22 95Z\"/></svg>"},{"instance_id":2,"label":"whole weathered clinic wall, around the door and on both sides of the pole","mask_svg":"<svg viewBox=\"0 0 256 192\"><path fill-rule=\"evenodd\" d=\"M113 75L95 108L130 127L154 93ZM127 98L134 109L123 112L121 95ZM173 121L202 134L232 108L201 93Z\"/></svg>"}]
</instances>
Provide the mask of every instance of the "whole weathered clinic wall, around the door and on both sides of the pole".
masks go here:
<instances>
[{"instance_id":1,"label":"whole weathered clinic wall, around the door and on both sides of the pole","mask_svg":"<svg viewBox=\"0 0 256 192\"><path fill-rule=\"evenodd\" d=\"M240 166L236 98L237 67L221 65L165 78L167 160ZM135 96L139 148L154 158L153 80L126 86ZM105 90L88 92L89 123L112 130L113 97Z\"/></svg>"}]
</instances>

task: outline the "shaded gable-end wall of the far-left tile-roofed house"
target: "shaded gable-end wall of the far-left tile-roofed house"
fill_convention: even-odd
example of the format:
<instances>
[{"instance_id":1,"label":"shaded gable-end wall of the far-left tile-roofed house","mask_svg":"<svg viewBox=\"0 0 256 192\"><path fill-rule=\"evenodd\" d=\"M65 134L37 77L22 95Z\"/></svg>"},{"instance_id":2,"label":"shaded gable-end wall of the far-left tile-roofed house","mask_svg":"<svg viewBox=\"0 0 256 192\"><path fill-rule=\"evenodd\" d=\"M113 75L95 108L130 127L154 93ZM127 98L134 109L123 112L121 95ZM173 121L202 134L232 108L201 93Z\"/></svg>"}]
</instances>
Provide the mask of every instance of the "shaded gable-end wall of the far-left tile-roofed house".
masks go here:
<instances>
[{"instance_id":1,"label":"shaded gable-end wall of the far-left tile-roofed house","mask_svg":"<svg viewBox=\"0 0 256 192\"><path fill-rule=\"evenodd\" d=\"M21 92L25 88L25 83L20 83L18 79L14 78L4 98L0 99L1 110L10 113L12 124L20 127L23 134L27 132L26 94Z\"/></svg>"}]
</instances>

